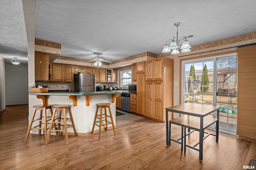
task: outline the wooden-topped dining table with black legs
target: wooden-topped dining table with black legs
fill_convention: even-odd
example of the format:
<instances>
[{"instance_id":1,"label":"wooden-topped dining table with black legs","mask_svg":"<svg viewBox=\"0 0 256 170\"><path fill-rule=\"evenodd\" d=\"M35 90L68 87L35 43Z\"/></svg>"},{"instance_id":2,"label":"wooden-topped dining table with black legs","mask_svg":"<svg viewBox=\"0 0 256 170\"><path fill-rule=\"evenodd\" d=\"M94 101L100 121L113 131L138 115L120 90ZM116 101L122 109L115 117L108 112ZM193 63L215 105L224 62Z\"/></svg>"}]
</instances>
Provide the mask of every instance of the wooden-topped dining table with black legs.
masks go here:
<instances>
[{"instance_id":1,"label":"wooden-topped dining table with black legs","mask_svg":"<svg viewBox=\"0 0 256 170\"><path fill-rule=\"evenodd\" d=\"M217 111L216 114L216 142L219 139L219 109L220 106L211 106L206 104L192 104L185 103L172 107L166 107L166 145L170 145L169 139L169 123L168 123L168 112L175 112L184 115L191 115L200 117L200 129L199 129L199 159L203 159L203 137L204 137L204 117Z\"/></svg>"}]
</instances>

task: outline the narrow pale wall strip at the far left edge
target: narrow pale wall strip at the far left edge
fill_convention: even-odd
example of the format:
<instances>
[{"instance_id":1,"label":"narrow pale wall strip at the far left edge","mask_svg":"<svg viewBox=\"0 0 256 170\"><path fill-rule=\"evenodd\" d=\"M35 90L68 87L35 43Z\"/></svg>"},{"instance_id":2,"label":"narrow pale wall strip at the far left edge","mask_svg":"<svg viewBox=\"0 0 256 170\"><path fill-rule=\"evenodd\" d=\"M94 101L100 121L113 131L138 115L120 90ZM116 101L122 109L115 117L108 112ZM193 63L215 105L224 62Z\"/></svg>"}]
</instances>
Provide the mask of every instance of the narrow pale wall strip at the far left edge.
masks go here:
<instances>
[{"instance_id":1,"label":"narrow pale wall strip at the far left edge","mask_svg":"<svg viewBox=\"0 0 256 170\"><path fill-rule=\"evenodd\" d=\"M0 57L0 110L5 108L4 59Z\"/></svg>"}]
</instances>

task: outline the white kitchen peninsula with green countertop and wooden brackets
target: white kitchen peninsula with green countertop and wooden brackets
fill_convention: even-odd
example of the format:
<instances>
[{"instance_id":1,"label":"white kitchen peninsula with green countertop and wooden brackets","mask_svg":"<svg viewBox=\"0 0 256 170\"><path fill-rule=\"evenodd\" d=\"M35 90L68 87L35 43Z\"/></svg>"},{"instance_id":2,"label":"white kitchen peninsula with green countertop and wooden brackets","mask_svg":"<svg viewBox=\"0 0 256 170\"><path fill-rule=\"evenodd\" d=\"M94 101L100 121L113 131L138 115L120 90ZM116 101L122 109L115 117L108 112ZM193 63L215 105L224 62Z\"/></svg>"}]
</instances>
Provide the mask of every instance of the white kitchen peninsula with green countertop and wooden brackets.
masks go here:
<instances>
[{"instance_id":1,"label":"white kitchen peninsula with green countertop and wooden brackets","mask_svg":"<svg viewBox=\"0 0 256 170\"><path fill-rule=\"evenodd\" d=\"M116 124L116 97L120 91L106 92L43 92L29 93L34 98L33 105L37 104L70 104L78 135L90 134L94 121L97 103L110 103L114 124ZM42 100L41 100L42 99ZM29 108L33 109L33 108ZM107 110L108 112L108 110ZM30 112L32 113L32 112ZM50 113L47 113L50 115ZM29 115L29 119L32 115ZM68 129L69 135L74 133Z\"/></svg>"}]
</instances>

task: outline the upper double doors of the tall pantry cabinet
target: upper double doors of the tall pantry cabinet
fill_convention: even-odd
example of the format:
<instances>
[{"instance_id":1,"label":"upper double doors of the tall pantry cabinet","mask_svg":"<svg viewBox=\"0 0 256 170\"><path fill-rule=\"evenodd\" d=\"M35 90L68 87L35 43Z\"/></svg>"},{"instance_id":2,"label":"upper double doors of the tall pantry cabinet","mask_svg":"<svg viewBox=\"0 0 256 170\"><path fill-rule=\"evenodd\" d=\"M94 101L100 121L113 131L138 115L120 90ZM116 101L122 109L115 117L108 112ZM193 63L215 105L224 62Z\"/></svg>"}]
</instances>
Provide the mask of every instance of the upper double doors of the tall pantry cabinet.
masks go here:
<instances>
[{"instance_id":1,"label":"upper double doors of the tall pantry cabinet","mask_svg":"<svg viewBox=\"0 0 256 170\"><path fill-rule=\"evenodd\" d=\"M163 80L163 58L145 62L146 81Z\"/></svg>"}]
</instances>

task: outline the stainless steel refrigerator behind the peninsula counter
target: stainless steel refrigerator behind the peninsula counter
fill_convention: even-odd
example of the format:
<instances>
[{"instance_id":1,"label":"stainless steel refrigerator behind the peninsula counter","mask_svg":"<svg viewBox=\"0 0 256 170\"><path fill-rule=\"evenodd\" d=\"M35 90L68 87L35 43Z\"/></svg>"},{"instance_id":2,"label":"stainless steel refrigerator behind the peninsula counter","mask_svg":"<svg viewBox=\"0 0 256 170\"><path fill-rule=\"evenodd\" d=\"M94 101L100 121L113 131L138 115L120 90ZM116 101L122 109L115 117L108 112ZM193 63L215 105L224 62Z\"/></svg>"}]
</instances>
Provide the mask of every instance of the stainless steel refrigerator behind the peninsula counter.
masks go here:
<instances>
[{"instance_id":1,"label":"stainless steel refrigerator behind the peninsula counter","mask_svg":"<svg viewBox=\"0 0 256 170\"><path fill-rule=\"evenodd\" d=\"M95 92L95 74L74 74L75 92Z\"/></svg>"}]
</instances>

